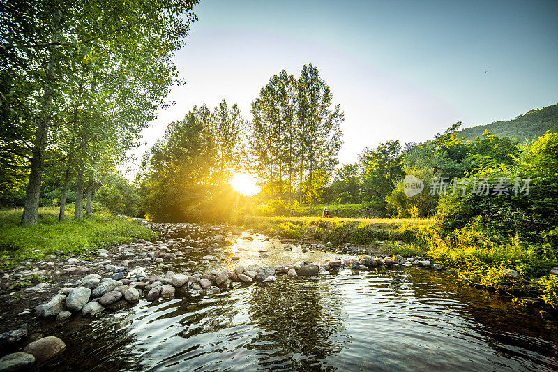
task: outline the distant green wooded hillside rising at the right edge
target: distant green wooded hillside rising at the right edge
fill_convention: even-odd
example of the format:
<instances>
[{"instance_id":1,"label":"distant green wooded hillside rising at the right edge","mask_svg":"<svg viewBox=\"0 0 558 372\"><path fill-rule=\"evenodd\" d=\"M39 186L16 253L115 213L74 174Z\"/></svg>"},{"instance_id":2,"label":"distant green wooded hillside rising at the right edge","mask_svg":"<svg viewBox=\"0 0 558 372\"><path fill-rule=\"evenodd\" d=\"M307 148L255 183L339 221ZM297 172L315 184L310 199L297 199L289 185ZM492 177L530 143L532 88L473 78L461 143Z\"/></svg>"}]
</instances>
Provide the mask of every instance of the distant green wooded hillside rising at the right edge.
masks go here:
<instances>
[{"instance_id":1,"label":"distant green wooded hillside rising at the right edge","mask_svg":"<svg viewBox=\"0 0 558 372\"><path fill-rule=\"evenodd\" d=\"M545 131L558 132L558 104L530 110L513 120L495 121L491 124L465 128L456 134L458 137L465 137L466 140L473 140L484 131L490 131L498 137L515 138L520 142L525 139L536 140Z\"/></svg>"}]
</instances>

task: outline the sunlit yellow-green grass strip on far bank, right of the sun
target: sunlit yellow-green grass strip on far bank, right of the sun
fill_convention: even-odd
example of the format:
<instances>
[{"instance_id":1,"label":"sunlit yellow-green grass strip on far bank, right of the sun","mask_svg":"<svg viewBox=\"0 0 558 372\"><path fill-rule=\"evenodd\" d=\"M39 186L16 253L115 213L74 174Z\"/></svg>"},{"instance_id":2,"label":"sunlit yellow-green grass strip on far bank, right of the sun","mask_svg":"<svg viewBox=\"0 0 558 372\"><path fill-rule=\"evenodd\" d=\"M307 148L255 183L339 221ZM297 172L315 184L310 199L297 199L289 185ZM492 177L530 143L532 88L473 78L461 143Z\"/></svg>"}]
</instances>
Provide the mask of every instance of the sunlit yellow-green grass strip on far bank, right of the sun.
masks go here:
<instances>
[{"instance_id":1,"label":"sunlit yellow-green grass strip on far bank, right of the sun","mask_svg":"<svg viewBox=\"0 0 558 372\"><path fill-rule=\"evenodd\" d=\"M333 244L376 244L378 240L418 244L432 222L429 219L252 216L244 218L241 224L293 239L331 241Z\"/></svg>"}]
</instances>

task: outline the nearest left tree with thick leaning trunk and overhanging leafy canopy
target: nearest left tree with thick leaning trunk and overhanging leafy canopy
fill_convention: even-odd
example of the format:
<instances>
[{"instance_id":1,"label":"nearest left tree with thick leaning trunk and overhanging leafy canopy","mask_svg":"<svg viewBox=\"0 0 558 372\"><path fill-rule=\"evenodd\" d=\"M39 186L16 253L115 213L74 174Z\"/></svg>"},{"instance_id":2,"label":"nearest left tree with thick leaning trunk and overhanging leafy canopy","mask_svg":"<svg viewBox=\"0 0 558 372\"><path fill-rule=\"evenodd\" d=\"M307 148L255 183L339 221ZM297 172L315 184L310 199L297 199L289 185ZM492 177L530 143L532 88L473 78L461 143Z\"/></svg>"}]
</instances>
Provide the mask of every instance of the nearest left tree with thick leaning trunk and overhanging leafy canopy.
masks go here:
<instances>
[{"instance_id":1,"label":"nearest left tree with thick leaning trunk and overhanging leafy canopy","mask_svg":"<svg viewBox=\"0 0 558 372\"><path fill-rule=\"evenodd\" d=\"M30 162L22 223L36 224L45 151L52 143L51 133L63 133L72 102L79 99L69 89L76 85L78 72L100 59L103 66L131 77L130 84L140 82L136 91L147 100L139 105L164 105L161 97L178 81L171 57L195 20L191 12L195 3L148 0L129 6L123 0L15 0L3 4L0 98L1 107L10 109L2 108L2 114L9 123L8 138L17 138L9 150Z\"/></svg>"}]
</instances>

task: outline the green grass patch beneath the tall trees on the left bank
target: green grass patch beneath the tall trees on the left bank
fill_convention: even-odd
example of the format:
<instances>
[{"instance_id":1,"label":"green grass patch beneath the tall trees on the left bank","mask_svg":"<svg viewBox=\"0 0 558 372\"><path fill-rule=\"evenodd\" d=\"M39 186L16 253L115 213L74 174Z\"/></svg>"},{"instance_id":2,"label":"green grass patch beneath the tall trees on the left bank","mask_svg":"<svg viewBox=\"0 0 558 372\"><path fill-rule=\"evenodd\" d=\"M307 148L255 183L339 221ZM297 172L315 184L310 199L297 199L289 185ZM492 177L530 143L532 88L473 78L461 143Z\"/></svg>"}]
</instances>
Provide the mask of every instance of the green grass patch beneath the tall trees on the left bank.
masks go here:
<instances>
[{"instance_id":1,"label":"green grass patch beneath the tall trees on the left bank","mask_svg":"<svg viewBox=\"0 0 558 372\"><path fill-rule=\"evenodd\" d=\"M22 226L22 209L0 210L0 265L10 267L18 262L40 260L56 251L86 255L110 244L132 241L138 237L152 239L155 233L140 222L96 211L90 218L75 221L70 214L58 222L59 209L39 210L35 226Z\"/></svg>"}]
</instances>

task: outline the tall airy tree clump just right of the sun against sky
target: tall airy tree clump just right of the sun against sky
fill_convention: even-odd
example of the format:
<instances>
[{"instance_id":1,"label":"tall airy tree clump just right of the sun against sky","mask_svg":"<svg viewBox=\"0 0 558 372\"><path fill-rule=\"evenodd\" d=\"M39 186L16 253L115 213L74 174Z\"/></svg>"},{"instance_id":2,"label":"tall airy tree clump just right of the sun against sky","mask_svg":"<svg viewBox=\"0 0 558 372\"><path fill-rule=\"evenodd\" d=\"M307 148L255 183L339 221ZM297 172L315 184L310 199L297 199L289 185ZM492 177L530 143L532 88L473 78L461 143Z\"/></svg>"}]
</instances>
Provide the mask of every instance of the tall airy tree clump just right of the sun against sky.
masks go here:
<instances>
[{"instance_id":1,"label":"tall airy tree clump just right of the sun against sky","mask_svg":"<svg viewBox=\"0 0 558 372\"><path fill-rule=\"evenodd\" d=\"M282 70L252 101L249 152L252 171L268 198L319 203L337 165L343 113L312 64L299 79Z\"/></svg>"}]
</instances>

